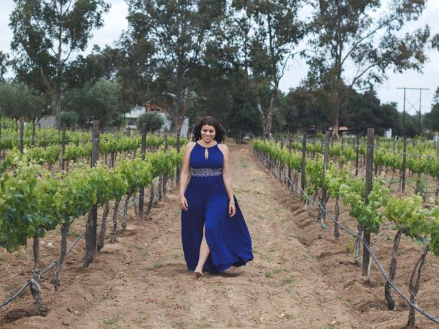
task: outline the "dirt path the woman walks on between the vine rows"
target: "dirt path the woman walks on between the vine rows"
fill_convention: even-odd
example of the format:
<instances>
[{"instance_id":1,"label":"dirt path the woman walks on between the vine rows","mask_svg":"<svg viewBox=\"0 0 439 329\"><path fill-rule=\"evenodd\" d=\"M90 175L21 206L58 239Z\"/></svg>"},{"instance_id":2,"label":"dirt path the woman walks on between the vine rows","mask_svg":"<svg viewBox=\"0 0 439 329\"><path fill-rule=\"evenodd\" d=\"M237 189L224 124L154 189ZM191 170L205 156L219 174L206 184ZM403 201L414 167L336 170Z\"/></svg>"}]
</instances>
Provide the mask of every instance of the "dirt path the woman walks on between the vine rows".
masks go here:
<instances>
[{"instance_id":1,"label":"dirt path the woman walks on between the vine rows","mask_svg":"<svg viewBox=\"0 0 439 329\"><path fill-rule=\"evenodd\" d=\"M194 280L180 243L177 195L148 256L112 282L108 299L71 328L352 328L357 321L294 236L285 188L252 158L232 148L235 194L252 235L255 259L223 275ZM361 328L361 327L360 327Z\"/></svg>"}]
</instances>

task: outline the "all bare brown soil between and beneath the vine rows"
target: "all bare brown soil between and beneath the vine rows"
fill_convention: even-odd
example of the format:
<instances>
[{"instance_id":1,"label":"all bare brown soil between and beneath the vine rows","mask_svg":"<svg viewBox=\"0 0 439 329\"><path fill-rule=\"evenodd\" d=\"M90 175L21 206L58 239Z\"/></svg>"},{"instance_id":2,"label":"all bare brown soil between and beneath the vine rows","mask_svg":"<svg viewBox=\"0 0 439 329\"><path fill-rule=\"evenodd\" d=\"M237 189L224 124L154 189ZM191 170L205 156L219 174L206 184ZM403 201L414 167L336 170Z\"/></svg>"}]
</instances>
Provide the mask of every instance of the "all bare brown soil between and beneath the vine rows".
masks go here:
<instances>
[{"instance_id":1,"label":"all bare brown soil between and beneath the vine rows","mask_svg":"<svg viewBox=\"0 0 439 329\"><path fill-rule=\"evenodd\" d=\"M169 192L150 217L137 221L130 210L128 230L118 232L95 263L82 267L84 241L67 256L54 291L43 277L47 314L36 311L29 289L0 309L0 328L405 328L407 304L395 295L396 310L387 310L384 279L372 265L372 284L353 264L353 238L333 226L321 230L311 217L252 156L251 147L230 145L233 185L252 236L254 260L245 267L197 280L187 271L180 242L178 192ZM333 212L333 202L328 210ZM341 221L356 223L341 206ZM82 232L75 221L69 241ZM372 247L388 270L392 230L372 236ZM47 234L41 245L42 268L59 251L60 233ZM29 241L30 242L30 241ZM32 242L29 243L29 246ZM396 284L408 294L408 280L421 246L403 238ZM439 315L438 259L427 256L418 304ZM32 276L32 249L7 254L0 250L0 299ZM417 316L418 328L438 328Z\"/></svg>"}]
</instances>

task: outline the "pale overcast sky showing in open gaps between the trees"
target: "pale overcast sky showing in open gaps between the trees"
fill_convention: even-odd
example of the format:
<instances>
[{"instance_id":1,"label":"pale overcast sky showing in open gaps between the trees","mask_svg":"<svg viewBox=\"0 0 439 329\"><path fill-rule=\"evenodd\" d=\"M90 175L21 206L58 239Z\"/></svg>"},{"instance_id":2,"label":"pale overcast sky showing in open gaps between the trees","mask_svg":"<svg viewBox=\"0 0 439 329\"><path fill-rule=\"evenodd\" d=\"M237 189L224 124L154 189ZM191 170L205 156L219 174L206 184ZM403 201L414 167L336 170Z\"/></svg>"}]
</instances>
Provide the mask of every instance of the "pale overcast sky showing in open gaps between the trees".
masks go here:
<instances>
[{"instance_id":1,"label":"pale overcast sky showing in open gaps between the trees","mask_svg":"<svg viewBox=\"0 0 439 329\"><path fill-rule=\"evenodd\" d=\"M128 14L128 6L124 0L107 0L111 4L111 9L106 16L104 16L104 27L93 32L93 38L88 42L88 51L91 50L93 45L112 45L117 38L119 38L123 29L128 27L126 16ZM6 53L10 52L10 41L12 38L12 32L9 23L9 15L12 12L13 1L12 0L0 0L0 50ZM420 20L412 22L407 25L407 29L417 27L423 27L428 24L432 33L438 33L438 19L439 19L439 1L430 0L427 9L423 12ZM408 71L404 74L388 73L388 80L386 80L381 86L376 86L379 99L383 103L394 101L398 103L398 109L403 110L403 90L397 90L396 88L429 88L427 91L423 91L422 95L422 112L429 112L431 108L431 101L434 96L436 88L439 86L439 51L429 50L427 51L429 62L425 64L423 73L417 73L415 71ZM288 71L285 73L283 80L281 80L280 88L284 92L287 92L289 88L295 88L300 84L307 73L307 64L303 60L293 60L289 63ZM419 109L419 92L407 90L406 93L407 102L405 108L410 114L414 114ZM414 105L411 108L410 103Z\"/></svg>"}]
</instances>

